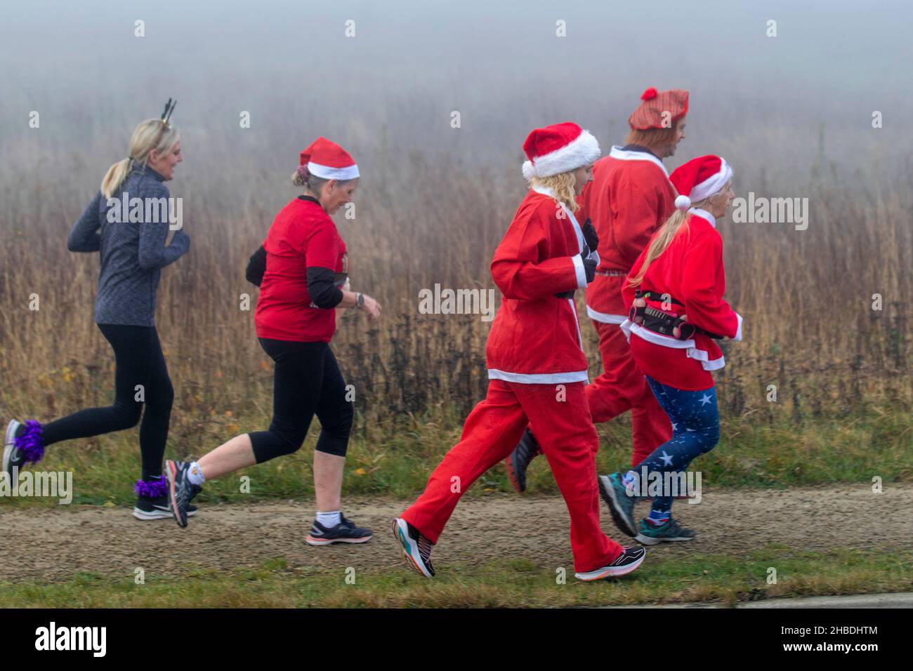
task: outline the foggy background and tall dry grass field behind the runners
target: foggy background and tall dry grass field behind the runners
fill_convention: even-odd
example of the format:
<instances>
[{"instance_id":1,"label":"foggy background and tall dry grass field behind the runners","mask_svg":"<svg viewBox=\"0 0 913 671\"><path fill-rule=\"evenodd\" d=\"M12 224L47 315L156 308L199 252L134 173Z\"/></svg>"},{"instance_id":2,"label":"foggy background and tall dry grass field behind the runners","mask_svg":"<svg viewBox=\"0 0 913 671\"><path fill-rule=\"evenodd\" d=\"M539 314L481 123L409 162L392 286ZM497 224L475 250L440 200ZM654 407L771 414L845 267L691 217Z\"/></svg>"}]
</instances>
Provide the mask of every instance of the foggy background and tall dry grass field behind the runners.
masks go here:
<instances>
[{"instance_id":1,"label":"foggy background and tall dry grass field behind the runners","mask_svg":"<svg viewBox=\"0 0 913 671\"><path fill-rule=\"evenodd\" d=\"M721 345L727 365L715 382L731 438L709 468L754 484L907 477L911 17L900 2L780 0L7 6L0 416L45 421L110 403L110 346L92 309L99 257L68 252L67 236L110 164L127 156L137 123L176 98L184 163L167 185L183 199L192 244L163 270L158 294L175 390L169 450L202 454L268 424L272 365L244 270L299 193L289 179L299 152L324 135L362 173L354 219L335 217L352 289L383 304L375 322L342 311L333 339L358 390L356 463L366 475L352 478L361 491L387 491L391 473L408 472L399 491L418 488L426 471L415 464L452 445L485 394L490 329L476 314L420 314L420 292L494 287L489 265L526 193L531 129L576 121L604 154L624 142L645 89L679 88L690 91L687 138L670 170L719 153L738 196L808 204L802 231L719 220L726 298L745 338ZM134 37L138 19L145 37ZM558 21L567 37L556 37ZM250 128L239 125L243 111ZM582 294L592 380L602 362ZM628 421L600 426L614 450L601 450L603 466L628 453ZM131 436L90 443L98 468L99 453L79 441L50 458L104 488L116 463L129 497ZM269 472L281 491L299 491L300 470Z\"/></svg>"}]
</instances>

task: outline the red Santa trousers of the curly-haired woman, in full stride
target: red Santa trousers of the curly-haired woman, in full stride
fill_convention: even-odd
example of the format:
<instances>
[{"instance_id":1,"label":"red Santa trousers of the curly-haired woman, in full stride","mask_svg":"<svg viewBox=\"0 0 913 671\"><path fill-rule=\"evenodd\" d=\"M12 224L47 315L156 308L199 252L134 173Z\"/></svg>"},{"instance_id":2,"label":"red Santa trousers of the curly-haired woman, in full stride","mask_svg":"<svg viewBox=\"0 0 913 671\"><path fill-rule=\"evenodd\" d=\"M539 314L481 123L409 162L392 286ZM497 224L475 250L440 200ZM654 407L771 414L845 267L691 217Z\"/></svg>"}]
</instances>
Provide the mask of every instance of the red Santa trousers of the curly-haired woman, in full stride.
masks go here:
<instances>
[{"instance_id":1,"label":"red Santa trousers of the curly-haired woman, in full stride","mask_svg":"<svg viewBox=\"0 0 913 671\"><path fill-rule=\"evenodd\" d=\"M436 467L425 493L403 513L403 519L436 543L463 492L507 458L530 425L571 515L574 570L594 571L617 559L622 546L606 536L599 524L595 459L599 438L583 386L491 380L485 400L467 417L459 443Z\"/></svg>"}]
</instances>

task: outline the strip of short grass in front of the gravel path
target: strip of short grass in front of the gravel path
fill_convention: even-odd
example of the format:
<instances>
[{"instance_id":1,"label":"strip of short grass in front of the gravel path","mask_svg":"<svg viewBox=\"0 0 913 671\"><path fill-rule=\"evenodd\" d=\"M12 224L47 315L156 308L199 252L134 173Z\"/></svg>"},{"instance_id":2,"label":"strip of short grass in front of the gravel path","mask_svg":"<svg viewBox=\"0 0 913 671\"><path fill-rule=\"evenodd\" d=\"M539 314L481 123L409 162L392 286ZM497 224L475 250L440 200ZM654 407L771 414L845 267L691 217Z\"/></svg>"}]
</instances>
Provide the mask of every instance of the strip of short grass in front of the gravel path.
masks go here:
<instances>
[{"instance_id":1,"label":"strip of short grass in front of the gravel path","mask_svg":"<svg viewBox=\"0 0 913 671\"><path fill-rule=\"evenodd\" d=\"M584 583L572 567L488 561L439 567L427 580L403 567L327 571L285 559L256 569L199 569L144 584L80 573L68 582L0 582L3 607L573 607L634 603L733 604L775 597L908 591L913 551L809 552L770 545L741 556L648 557L620 580ZM776 582L769 583L770 570ZM561 571L565 581L561 582Z\"/></svg>"}]
</instances>

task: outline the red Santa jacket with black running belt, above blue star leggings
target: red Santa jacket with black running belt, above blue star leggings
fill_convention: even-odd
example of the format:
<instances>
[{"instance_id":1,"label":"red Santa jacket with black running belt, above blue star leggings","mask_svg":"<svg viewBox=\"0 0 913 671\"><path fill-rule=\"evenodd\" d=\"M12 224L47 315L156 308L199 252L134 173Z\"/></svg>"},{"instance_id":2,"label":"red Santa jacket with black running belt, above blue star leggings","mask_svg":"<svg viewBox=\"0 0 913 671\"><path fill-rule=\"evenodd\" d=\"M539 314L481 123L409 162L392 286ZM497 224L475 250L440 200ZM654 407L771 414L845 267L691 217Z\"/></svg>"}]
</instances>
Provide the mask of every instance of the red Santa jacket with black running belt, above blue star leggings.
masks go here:
<instances>
[{"instance_id":1,"label":"red Santa jacket with black running belt, above blue star leggings","mask_svg":"<svg viewBox=\"0 0 913 671\"><path fill-rule=\"evenodd\" d=\"M640 288L668 294L685 307L653 300L647 300L647 305L671 308L665 309L666 313L677 317L687 314L689 323L740 341L742 318L723 299L726 291L723 240L716 229L716 220L706 210L691 208L688 212L677 236L647 268ZM637 257L629 278L637 274L645 257L646 248ZM625 281L623 293L624 307L630 310L635 288ZM708 389L713 385L709 371L725 364L717 342L703 333L679 341L628 320L621 326L631 339L637 367L663 384L677 389Z\"/></svg>"}]
</instances>

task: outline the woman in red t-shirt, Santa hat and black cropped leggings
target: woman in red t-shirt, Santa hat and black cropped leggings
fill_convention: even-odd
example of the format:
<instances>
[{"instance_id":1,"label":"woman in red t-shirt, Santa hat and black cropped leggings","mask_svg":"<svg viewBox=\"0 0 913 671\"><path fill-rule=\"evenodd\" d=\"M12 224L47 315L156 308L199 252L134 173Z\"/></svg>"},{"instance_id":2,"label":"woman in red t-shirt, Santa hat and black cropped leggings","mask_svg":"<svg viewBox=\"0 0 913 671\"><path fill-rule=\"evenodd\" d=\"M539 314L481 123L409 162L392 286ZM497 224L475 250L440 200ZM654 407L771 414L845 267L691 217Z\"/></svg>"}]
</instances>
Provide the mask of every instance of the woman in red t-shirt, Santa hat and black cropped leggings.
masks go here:
<instances>
[{"instance_id":1,"label":"woman in red t-shirt, Santa hat and black cropped leggings","mask_svg":"<svg viewBox=\"0 0 913 671\"><path fill-rule=\"evenodd\" d=\"M268 431L238 435L199 461L166 462L180 526L187 526L187 506L207 479L297 451L316 414L317 519L306 540L329 545L371 539L370 529L357 527L340 509L352 402L330 349L337 308L363 309L372 320L381 312L376 300L349 290L346 246L330 216L352 202L358 181L358 166L338 144L319 138L301 152L292 182L305 193L276 215L247 267L247 278L260 287L257 337L276 363L273 420Z\"/></svg>"}]
</instances>

